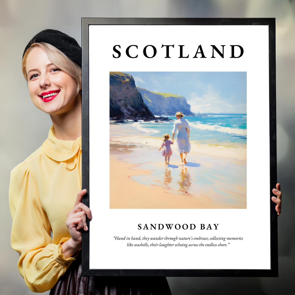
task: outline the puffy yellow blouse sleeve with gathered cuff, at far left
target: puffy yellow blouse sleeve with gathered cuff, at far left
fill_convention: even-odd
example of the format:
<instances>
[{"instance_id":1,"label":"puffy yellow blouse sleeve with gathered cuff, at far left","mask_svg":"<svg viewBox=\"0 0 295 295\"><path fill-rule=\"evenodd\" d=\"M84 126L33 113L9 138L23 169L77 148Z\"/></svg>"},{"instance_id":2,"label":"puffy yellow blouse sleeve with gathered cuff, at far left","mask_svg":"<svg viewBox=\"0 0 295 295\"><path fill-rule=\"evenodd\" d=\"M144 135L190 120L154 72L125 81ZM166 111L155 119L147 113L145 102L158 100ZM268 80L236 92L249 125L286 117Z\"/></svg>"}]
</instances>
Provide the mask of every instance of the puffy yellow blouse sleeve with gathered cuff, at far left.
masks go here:
<instances>
[{"instance_id":1,"label":"puffy yellow blouse sleeve with gathered cuff, at far left","mask_svg":"<svg viewBox=\"0 0 295 295\"><path fill-rule=\"evenodd\" d=\"M52 243L50 223L26 162L11 172L9 206L13 219L11 246L19 253L19 272L33 292L48 291L75 258L65 259L61 253L60 243L69 238L58 245Z\"/></svg>"}]
</instances>

